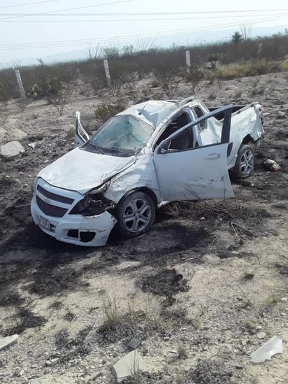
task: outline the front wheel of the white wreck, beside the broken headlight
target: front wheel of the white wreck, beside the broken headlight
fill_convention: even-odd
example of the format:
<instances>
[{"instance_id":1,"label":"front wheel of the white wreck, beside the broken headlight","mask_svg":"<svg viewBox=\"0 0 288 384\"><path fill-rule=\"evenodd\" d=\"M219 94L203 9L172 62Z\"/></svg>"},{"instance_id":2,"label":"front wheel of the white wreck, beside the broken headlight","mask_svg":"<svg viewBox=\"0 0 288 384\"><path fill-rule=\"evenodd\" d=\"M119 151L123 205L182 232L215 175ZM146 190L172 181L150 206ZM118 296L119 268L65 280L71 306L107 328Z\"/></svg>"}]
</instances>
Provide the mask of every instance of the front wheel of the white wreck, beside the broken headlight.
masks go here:
<instances>
[{"instance_id":1,"label":"front wheel of the white wreck, beside the broken headlight","mask_svg":"<svg viewBox=\"0 0 288 384\"><path fill-rule=\"evenodd\" d=\"M147 232L155 219L155 204L151 197L141 191L124 197L115 208L117 224L115 230L121 236L131 239Z\"/></svg>"}]
</instances>

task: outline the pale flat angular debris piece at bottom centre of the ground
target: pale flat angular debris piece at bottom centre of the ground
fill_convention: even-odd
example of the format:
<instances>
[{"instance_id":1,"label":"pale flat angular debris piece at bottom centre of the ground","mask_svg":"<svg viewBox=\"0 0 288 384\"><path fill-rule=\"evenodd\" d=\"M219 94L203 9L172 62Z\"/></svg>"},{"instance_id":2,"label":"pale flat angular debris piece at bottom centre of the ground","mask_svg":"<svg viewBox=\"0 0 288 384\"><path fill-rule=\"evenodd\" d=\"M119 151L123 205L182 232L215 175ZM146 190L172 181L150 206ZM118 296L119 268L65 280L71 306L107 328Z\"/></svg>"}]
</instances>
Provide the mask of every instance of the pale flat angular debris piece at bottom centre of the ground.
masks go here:
<instances>
[{"instance_id":1,"label":"pale flat angular debris piece at bottom centre of the ground","mask_svg":"<svg viewBox=\"0 0 288 384\"><path fill-rule=\"evenodd\" d=\"M124 378L132 376L139 371L146 371L144 361L136 350L132 350L123 356L113 365L113 372L117 377L117 383L121 383Z\"/></svg>"}]
</instances>

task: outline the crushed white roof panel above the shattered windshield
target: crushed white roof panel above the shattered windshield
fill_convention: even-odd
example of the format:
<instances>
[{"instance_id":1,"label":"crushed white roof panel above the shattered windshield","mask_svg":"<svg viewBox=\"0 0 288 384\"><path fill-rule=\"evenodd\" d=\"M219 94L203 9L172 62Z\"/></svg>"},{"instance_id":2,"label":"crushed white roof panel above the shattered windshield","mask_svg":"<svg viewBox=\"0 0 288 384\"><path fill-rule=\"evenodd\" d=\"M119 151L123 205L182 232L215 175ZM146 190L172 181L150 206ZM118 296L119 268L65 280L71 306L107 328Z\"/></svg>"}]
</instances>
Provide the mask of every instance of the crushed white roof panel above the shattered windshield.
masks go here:
<instances>
[{"instance_id":1,"label":"crushed white roof panel above the shattered windshield","mask_svg":"<svg viewBox=\"0 0 288 384\"><path fill-rule=\"evenodd\" d=\"M149 100L131 106L118 115L134 115L156 128L177 108L177 104L171 101Z\"/></svg>"}]
</instances>

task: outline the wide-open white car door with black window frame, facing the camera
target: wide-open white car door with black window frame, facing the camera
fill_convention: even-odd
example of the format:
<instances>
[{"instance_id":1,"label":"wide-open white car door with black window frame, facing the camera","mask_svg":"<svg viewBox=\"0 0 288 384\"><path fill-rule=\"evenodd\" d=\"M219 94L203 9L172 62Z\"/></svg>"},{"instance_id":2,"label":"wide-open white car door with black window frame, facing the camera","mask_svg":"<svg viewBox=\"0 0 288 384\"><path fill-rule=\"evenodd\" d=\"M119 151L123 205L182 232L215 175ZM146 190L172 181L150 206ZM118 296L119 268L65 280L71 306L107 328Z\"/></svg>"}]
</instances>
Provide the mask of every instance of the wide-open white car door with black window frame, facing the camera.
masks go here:
<instances>
[{"instance_id":1,"label":"wide-open white car door with black window frame, facing the camera","mask_svg":"<svg viewBox=\"0 0 288 384\"><path fill-rule=\"evenodd\" d=\"M234 197L228 168L232 106L217 109L168 136L154 150L154 167L163 201ZM169 150L171 140L208 118L224 112L220 143L185 150Z\"/></svg>"}]
</instances>

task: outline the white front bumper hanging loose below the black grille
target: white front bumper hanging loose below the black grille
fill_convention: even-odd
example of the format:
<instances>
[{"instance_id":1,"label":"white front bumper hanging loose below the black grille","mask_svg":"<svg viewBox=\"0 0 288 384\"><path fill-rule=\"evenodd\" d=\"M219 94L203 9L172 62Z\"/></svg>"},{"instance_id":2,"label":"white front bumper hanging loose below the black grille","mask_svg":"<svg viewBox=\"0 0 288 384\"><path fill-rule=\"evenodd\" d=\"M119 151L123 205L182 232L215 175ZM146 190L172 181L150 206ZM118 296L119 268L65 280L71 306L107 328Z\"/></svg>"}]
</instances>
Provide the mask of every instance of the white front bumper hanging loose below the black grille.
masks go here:
<instances>
[{"instance_id":1,"label":"white front bumper hanging loose below the black grille","mask_svg":"<svg viewBox=\"0 0 288 384\"><path fill-rule=\"evenodd\" d=\"M59 241L77 246L105 246L117 220L107 211L96 216L64 215L55 218L45 215L35 197L31 201L31 215L43 232Z\"/></svg>"}]
</instances>

